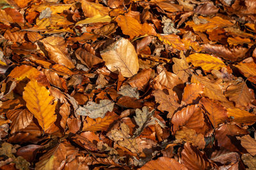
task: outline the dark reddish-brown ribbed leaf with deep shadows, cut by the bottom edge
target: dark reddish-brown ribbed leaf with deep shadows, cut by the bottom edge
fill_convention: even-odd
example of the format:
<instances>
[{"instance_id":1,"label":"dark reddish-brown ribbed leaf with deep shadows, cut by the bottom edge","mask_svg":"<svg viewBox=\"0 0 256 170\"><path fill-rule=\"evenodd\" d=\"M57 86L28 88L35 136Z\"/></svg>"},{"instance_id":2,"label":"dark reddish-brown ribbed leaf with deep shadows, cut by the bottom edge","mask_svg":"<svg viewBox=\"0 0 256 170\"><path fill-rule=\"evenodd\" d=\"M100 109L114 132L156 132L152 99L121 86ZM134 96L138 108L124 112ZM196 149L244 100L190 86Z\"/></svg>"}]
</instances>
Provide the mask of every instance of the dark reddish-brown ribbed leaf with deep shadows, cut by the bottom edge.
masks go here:
<instances>
[{"instance_id":1,"label":"dark reddish-brown ribbed leaf with deep shadows, cut by the bottom edge","mask_svg":"<svg viewBox=\"0 0 256 170\"><path fill-rule=\"evenodd\" d=\"M181 152L181 162L188 169L208 169L211 163L207 160L205 154L197 150L189 143L185 143L184 150Z\"/></svg>"}]
</instances>

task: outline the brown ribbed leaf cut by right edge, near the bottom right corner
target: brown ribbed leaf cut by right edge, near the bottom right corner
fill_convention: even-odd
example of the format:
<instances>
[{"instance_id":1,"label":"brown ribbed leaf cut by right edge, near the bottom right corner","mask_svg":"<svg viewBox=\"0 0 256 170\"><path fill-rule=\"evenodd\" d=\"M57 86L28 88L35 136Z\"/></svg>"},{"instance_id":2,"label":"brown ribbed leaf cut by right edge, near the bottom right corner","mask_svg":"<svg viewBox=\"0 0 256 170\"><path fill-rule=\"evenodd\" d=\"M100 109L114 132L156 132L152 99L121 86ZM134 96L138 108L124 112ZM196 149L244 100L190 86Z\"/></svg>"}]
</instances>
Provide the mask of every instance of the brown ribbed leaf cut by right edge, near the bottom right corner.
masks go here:
<instances>
[{"instance_id":1,"label":"brown ribbed leaf cut by right edge, near the bottom right corner","mask_svg":"<svg viewBox=\"0 0 256 170\"><path fill-rule=\"evenodd\" d=\"M256 140L251 138L250 135L242 137L236 137L241 141L241 145L250 153L253 157L256 155Z\"/></svg>"}]
</instances>

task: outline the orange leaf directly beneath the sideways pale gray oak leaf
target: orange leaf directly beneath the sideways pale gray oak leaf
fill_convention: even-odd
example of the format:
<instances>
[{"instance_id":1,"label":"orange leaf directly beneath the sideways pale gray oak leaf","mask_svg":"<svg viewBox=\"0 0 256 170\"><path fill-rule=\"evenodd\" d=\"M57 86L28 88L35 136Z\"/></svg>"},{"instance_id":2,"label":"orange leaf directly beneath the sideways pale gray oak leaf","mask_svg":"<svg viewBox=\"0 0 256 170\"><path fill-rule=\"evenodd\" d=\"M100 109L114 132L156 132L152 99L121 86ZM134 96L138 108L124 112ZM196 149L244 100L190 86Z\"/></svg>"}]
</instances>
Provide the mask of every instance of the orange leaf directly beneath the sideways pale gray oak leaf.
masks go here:
<instances>
[{"instance_id":1,"label":"orange leaf directly beneath the sideways pale gray oak leaf","mask_svg":"<svg viewBox=\"0 0 256 170\"><path fill-rule=\"evenodd\" d=\"M108 112L104 118L86 117L83 125L83 131L106 131L109 125L118 119L118 115L114 112Z\"/></svg>"}]
</instances>

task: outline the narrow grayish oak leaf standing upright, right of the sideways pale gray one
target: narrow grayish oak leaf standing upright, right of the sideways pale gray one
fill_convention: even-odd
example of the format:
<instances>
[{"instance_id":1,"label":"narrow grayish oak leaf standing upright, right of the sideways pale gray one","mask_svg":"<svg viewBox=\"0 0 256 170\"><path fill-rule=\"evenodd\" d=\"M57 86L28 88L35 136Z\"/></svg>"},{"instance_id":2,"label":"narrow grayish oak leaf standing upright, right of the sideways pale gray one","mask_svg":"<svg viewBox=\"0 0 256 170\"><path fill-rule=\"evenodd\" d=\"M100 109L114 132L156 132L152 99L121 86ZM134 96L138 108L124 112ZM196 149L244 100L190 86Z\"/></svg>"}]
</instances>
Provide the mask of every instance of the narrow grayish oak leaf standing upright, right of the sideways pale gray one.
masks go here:
<instances>
[{"instance_id":1,"label":"narrow grayish oak leaf standing upright, right of the sideways pale gray one","mask_svg":"<svg viewBox=\"0 0 256 170\"><path fill-rule=\"evenodd\" d=\"M136 109L136 117L134 117L134 120L139 127L134 132L134 137L140 135L140 133L146 127L148 120L154 114L154 112L155 110L149 111L147 106L144 106L142 108L142 111L140 109Z\"/></svg>"}]
</instances>

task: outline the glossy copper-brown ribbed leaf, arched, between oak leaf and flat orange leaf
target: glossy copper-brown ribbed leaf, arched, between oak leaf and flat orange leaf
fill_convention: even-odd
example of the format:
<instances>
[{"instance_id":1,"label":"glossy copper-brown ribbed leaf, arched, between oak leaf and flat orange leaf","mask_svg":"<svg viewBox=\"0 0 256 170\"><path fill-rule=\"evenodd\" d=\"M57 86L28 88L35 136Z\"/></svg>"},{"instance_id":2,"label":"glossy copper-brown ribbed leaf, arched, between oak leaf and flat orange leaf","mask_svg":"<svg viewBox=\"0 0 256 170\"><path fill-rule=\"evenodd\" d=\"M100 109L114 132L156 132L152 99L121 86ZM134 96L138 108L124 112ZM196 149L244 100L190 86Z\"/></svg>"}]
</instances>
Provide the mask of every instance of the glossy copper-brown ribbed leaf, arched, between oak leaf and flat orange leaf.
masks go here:
<instances>
[{"instance_id":1,"label":"glossy copper-brown ribbed leaf, arched, between oak leaf and flat orange leaf","mask_svg":"<svg viewBox=\"0 0 256 170\"><path fill-rule=\"evenodd\" d=\"M204 134L206 128L204 113L198 104L187 106L177 111L172 117L172 124L174 132L179 131L180 127L185 126Z\"/></svg>"}]
</instances>

